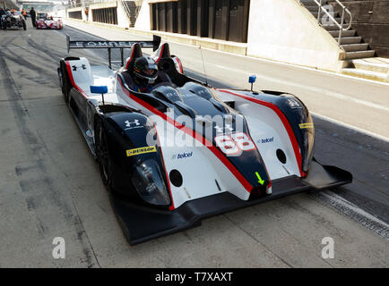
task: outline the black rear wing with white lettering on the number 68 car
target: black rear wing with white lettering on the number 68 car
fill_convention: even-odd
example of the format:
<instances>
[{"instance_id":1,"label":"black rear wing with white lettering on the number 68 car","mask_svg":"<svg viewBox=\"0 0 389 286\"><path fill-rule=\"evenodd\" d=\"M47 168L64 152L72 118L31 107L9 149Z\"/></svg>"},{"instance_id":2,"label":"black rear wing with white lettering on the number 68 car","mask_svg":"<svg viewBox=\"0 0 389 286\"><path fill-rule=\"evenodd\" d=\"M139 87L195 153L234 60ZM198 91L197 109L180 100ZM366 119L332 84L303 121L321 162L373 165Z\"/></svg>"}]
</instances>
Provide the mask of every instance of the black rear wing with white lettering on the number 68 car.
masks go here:
<instances>
[{"instance_id":1,"label":"black rear wing with white lettering on the number 68 car","mask_svg":"<svg viewBox=\"0 0 389 286\"><path fill-rule=\"evenodd\" d=\"M108 63L111 67L111 63L121 63L122 66L125 63L123 49L131 48L134 44L139 44L143 48L152 47L152 51L156 51L160 46L160 36L153 35L152 41L72 41L70 36L66 35L67 53L70 49L74 48L106 48L108 49ZM111 60L111 49L119 48L121 61Z\"/></svg>"}]
</instances>

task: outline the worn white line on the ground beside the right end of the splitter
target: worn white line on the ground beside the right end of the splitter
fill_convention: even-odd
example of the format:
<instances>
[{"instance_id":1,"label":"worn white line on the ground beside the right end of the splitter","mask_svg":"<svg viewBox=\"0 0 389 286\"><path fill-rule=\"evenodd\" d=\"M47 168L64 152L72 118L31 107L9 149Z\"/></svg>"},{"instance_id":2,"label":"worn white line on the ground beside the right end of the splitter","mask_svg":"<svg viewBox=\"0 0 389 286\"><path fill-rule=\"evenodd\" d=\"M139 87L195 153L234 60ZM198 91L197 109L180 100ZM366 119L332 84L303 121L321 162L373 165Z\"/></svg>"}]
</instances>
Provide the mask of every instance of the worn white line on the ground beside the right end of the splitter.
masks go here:
<instances>
[{"instance_id":1,"label":"worn white line on the ground beside the right end of the splitter","mask_svg":"<svg viewBox=\"0 0 389 286\"><path fill-rule=\"evenodd\" d=\"M324 203L333 206L342 214L349 216L354 221L362 224L367 229L375 231L379 236L389 241L389 225L372 214L368 214L358 206L353 205L348 200L341 198L330 190L318 192L316 196Z\"/></svg>"}]
</instances>

